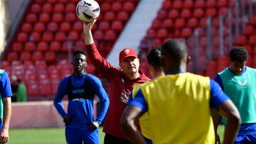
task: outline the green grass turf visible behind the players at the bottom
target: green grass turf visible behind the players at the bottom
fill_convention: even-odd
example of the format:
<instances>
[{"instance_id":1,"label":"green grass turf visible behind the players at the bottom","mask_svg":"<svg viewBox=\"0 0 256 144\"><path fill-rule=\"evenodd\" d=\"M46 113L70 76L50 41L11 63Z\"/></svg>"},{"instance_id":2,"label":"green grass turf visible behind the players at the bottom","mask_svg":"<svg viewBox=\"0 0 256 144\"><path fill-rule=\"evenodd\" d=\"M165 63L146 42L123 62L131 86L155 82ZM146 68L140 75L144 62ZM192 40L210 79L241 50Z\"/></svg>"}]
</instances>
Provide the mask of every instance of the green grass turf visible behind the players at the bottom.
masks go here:
<instances>
[{"instance_id":1,"label":"green grass turf visible behind the players at the bottom","mask_svg":"<svg viewBox=\"0 0 256 144\"><path fill-rule=\"evenodd\" d=\"M100 131L100 144L103 144L104 135ZM224 126L219 126L220 139L223 138ZM65 128L21 128L9 130L9 144L63 144L65 143Z\"/></svg>"}]
</instances>

